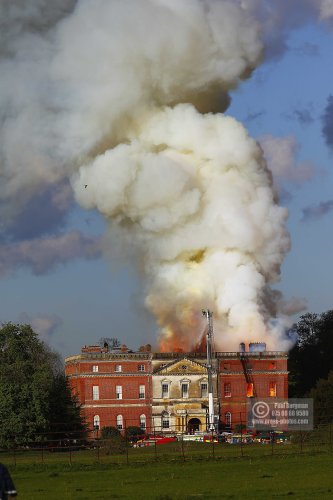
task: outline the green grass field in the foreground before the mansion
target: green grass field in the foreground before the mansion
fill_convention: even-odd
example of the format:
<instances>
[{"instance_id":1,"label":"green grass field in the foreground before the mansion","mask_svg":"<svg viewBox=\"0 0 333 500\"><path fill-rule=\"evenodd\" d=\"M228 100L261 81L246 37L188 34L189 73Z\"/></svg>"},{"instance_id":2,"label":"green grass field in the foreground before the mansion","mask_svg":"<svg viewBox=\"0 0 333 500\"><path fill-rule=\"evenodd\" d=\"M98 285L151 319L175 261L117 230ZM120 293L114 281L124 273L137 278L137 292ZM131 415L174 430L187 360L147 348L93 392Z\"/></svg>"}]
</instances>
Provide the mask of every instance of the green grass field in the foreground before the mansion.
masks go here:
<instances>
[{"instance_id":1,"label":"green grass field in the foreground before the mansion","mask_svg":"<svg viewBox=\"0 0 333 500\"><path fill-rule=\"evenodd\" d=\"M1 456L22 500L333 499L333 454L292 446L161 445L129 455L68 453ZM162 449L163 448L163 449ZM297 448L298 450L298 448ZM242 453L240 453L240 451ZM272 454L273 451L273 454ZM243 456L242 456L243 455ZM15 463L13 459L15 458Z\"/></svg>"}]
</instances>

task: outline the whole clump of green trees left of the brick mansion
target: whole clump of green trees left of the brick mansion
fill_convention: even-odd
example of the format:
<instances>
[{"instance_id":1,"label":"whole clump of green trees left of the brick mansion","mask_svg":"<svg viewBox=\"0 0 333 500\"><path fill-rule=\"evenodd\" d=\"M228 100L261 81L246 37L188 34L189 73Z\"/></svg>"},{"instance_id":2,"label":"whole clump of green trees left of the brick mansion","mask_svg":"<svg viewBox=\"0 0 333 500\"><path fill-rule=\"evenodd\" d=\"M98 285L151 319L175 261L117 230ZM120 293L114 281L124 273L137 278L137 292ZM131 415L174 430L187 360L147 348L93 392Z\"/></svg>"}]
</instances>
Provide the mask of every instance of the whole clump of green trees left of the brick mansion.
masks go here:
<instances>
[{"instance_id":1,"label":"whole clump of green trees left of the brick mansion","mask_svg":"<svg viewBox=\"0 0 333 500\"><path fill-rule=\"evenodd\" d=\"M56 420L79 418L57 353L30 325L0 328L0 446L42 440Z\"/></svg>"}]
</instances>

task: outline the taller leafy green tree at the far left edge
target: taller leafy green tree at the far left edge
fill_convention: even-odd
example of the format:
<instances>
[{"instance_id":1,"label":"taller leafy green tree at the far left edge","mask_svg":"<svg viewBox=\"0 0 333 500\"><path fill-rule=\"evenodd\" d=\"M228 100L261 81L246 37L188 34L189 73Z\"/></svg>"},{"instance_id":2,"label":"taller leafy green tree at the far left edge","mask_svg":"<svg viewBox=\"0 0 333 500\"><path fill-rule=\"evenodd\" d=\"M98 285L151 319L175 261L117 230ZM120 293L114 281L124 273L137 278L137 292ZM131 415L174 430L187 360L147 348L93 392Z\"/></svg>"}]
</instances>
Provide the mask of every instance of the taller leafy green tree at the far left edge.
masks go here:
<instances>
[{"instance_id":1,"label":"taller leafy green tree at the far left edge","mask_svg":"<svg viewBox=\"0 0 333 500\"><path fill-rule=\"evenodd\" d=\"M29 325L0 329L0 443L28 441L47 427L56 360Z\"/></svg>"}]
</instances>

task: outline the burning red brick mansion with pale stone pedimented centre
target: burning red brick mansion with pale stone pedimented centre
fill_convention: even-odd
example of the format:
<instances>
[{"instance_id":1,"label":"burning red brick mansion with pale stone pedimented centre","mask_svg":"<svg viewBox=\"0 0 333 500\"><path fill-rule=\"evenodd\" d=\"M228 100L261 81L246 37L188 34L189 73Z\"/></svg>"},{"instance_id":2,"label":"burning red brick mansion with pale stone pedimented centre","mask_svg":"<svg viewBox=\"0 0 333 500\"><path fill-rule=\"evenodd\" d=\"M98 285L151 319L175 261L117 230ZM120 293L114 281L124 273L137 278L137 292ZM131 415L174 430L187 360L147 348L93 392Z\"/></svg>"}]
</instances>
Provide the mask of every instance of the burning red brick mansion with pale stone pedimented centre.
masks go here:
<instances>
[{"instance_id":1,"label":"burning red brick mansion with pale stone pedimented centre","mask_svg":"<svg viewBox=\"0 0 333 500\"><path fill-rule=\"evenodd\" d=\"M213 352L211 359L209 380L205 353L85 346L66 358L65 371L88 425L97 431L206 431L210 385L215 427L227 430L246 424L249 398L288 395L286 352L250 343L240 344L238 352Z\"/></svg>"}]
</instances>

